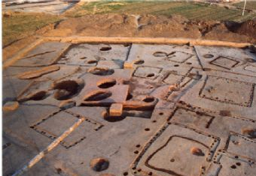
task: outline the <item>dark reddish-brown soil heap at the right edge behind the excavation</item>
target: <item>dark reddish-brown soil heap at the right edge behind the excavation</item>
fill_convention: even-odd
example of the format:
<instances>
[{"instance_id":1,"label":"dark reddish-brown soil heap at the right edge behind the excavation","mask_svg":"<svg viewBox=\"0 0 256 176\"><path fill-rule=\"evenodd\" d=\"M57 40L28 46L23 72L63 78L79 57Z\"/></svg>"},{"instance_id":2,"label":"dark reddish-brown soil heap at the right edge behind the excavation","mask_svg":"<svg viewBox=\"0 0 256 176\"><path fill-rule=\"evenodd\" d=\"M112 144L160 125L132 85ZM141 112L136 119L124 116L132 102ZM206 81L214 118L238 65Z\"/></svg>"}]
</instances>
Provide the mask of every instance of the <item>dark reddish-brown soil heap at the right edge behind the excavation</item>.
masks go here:
<instances>
[{"instance_id":1,"label":"dark reddish-brown soil heap at the right edge behind the excavation","mask_svg":"<svg viewBox=\"0 0 256 176\"><path fill-rule=\"evenodd\" d=\"M225 22L226 27L237 34L246 35L256 40L256 20L246 22Z\"/></svg>"}]
</instances>

